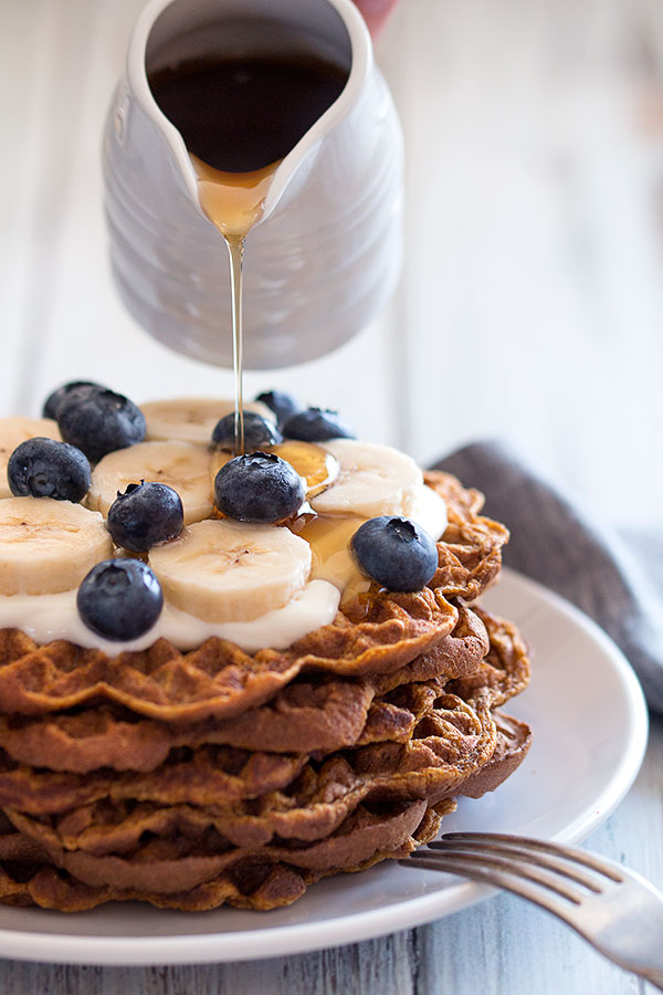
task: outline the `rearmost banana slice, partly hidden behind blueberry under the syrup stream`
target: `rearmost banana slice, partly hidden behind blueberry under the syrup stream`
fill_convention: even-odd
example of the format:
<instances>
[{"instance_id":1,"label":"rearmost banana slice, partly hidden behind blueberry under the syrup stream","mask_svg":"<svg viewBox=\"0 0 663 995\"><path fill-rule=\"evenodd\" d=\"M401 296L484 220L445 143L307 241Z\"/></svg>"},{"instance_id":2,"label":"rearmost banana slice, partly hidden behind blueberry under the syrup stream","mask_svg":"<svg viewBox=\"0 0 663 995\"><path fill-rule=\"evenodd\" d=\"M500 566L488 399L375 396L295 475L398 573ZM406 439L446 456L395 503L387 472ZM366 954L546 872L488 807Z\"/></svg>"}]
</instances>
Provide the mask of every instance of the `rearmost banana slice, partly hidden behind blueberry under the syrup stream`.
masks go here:
<instances>
[{"instance_id":1,"label":"rearmost banana slice, partly hidden behind blueberry under the syrup stream","mask_svg":"<svg viewBox=\"0 0 663 995\"><path fill-rule=\"evenodd\" d=\"M140 405L147 421L146 439L149 441L196 442L209 446L214 426L220 418L234 411L234 401L228 398L185 397L177 400L148 401ZM276 416L260 401L244 405L245 411L255 411L269 421Z\"/></svg>"}]
</instances>

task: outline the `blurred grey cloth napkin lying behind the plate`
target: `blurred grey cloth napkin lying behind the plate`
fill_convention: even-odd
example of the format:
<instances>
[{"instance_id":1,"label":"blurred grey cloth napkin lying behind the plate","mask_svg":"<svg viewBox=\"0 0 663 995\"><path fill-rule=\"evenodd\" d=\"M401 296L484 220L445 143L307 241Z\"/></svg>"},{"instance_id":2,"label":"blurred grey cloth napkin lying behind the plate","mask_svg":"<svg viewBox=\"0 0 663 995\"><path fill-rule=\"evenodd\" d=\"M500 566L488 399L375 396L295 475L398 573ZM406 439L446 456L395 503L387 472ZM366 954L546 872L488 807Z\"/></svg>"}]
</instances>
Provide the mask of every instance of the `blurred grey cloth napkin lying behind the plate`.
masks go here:
<instances>
[{"instance_id":1,"label":"blurred grey cloth napkin lying behind the plate","mask_svg":"<svg viewBox=\"0 0 663 995\"><path fill-rule=\"evenodd\" d=\"M512 532L505 565L593 618L663 712L663 535L611 531L502 442L466 446L434 469L483 491L485 513Z\"/></svg>"}]
</instances>

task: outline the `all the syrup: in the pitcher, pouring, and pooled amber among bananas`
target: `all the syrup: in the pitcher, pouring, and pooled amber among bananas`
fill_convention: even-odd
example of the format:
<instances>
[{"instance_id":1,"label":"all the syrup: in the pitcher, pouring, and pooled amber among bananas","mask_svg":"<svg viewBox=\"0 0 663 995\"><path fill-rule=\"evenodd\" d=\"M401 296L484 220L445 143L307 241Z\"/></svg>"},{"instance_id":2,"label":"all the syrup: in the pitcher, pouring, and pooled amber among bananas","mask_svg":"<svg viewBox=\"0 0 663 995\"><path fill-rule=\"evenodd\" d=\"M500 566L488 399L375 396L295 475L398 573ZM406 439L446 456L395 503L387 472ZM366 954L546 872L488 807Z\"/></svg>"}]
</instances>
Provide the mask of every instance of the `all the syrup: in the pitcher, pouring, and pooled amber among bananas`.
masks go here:
<instances>
[{"instance_id":1,"label":"all the syrup: in the pitcher, pouring, and pooled amber among bananas","mask_svg":"<svg viewBox=\"0 0 663 995\"><path fill-rule=\"evenodd\" d=\"M274 174L299 138L340 95L347 70L313 56L185 62L150 75L154 97L180 132L198 178L200 206L225 240L232 282L235 453L244 451L242 398L242 276L244 241L260 220ZM338 473L318 446L288 440L272 447L306 482L312 499ZM212 479L232 458L212 457ZM307 505L307 507L309 507ZM291 523L312 548L312 578L330 580L344 596L370 583L349 554L365 520L304 512Z\"/></svg>"}]
</instances>

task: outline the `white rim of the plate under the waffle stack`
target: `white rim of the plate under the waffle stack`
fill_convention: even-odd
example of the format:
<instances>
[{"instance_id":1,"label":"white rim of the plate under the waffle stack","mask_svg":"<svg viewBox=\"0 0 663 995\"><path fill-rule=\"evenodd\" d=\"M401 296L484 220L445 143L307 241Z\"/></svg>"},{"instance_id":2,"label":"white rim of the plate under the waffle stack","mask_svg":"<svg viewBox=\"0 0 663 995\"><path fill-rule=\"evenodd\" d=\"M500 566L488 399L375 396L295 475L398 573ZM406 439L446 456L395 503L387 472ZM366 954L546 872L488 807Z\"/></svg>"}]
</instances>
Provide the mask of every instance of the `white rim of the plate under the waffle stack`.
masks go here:
<instances>
[{"instance_id":1,"label":"white rim of the plate under the waffle stack","mask_svg":"<svg viewBox=\"0 0 663 995\"><path fill-rule=\"evenodd\" d=\"M586 839L615 810L631 788L644 758L649 736L649 711L635 673L622 650L612 639L575 605L560 595L508 567L502 575L509 585L535 597L536 600L570 618L601 648L624 687L624 718L631 736L621 761L598 797L585 811L560 831L547 837L551 841L576 844ZM74 933L42 933L0 928L0 957L53 964L86 964L99 966L145 966L167 964L232 963L266 960L326 950L347 943L376 939L404 929L413 929L453 912L470 908L496 894L498 889L471 881L451 888L415 896L383 909L370 909L332 920L311 923L267 926L259 933L252 930L220 933L164 934L158 936L98 936ZM39 911L39 910L25 910ZM84 914L84 913L82 913ZM229 941L219 940L228 936ZM259 949L251 950L257 940ZM35 952L33 946L38 945Z\"/></svg>"}]
</instances>

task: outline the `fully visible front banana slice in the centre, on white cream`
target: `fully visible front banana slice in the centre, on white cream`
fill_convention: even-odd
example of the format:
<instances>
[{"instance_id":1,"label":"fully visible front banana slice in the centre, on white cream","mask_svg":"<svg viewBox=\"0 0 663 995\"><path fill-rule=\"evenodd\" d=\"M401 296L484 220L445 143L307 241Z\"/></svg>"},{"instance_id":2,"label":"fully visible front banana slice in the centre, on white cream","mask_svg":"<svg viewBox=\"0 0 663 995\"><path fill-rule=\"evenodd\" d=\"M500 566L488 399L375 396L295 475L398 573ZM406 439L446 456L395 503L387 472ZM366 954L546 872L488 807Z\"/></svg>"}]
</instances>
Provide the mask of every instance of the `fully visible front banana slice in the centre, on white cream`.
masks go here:
<instances>
[{"instance_id":1,"label":"fully visible front banana slice in the centre, on white cream","mask_svg":"<svg viewBox=\"0 0 663 995\"><path fill-rule=\"evenodd\" d=\"M250 621L304 588L311 547L290 528L210 519L155 546L149 565L176 608L206 621Z\"/></svg>"}]
</instances>

